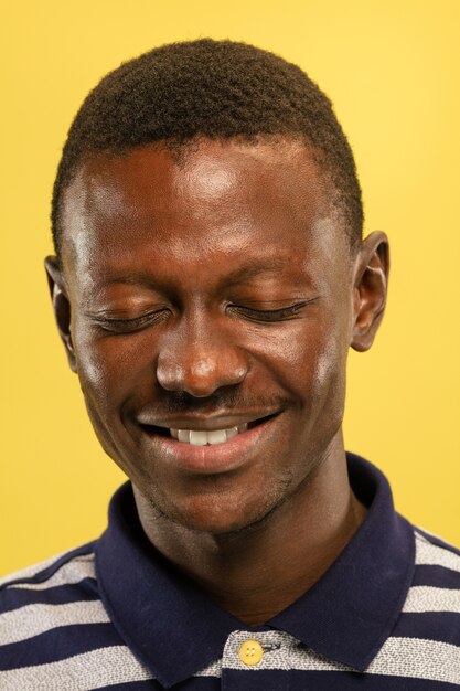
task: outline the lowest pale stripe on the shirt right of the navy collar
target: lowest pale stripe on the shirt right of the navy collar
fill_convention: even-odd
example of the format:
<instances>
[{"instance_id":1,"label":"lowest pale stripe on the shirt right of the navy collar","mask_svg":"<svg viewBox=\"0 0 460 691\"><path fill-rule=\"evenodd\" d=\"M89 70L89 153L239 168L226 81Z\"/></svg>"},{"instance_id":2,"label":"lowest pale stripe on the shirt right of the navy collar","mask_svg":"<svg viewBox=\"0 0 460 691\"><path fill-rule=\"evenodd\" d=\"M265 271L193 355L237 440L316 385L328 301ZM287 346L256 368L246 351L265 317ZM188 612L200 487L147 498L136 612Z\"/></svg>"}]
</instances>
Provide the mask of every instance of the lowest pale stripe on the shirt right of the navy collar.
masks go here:
<instances>
[{"instance_id":1,"label":"lowest pale stripe on the shirt right of the navy collar","mask_svg":"<svg viewBox=\"0 0 460 691\"><path fill-rule=\"evenodd\" d=\"M366 672L460 683L460 648L424 638L388 638Z\"/></svg>"}]
</instances>

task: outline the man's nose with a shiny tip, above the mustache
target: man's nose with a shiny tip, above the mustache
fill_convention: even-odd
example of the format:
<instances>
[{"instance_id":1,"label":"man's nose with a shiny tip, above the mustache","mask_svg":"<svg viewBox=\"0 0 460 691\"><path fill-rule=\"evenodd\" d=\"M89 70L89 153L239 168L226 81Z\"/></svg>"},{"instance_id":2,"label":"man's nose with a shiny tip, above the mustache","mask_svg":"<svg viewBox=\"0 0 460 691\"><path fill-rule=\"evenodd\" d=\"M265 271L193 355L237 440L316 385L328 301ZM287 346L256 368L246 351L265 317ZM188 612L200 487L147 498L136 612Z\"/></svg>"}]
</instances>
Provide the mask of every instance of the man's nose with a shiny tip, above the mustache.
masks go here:
<instances>
[{"instance_id":1,"label":"man's nose with a shiny tip, above the mustache","mask_svg":"<svg viewBox=\"0 0 460 691\"><path fill-rule=\"evenodd\" d=\"M244 381L246 353L228 330L211 321L191 318L164 333L157 361L157 380L163 389L204 397Z\"/></svg>"}]
</instances>

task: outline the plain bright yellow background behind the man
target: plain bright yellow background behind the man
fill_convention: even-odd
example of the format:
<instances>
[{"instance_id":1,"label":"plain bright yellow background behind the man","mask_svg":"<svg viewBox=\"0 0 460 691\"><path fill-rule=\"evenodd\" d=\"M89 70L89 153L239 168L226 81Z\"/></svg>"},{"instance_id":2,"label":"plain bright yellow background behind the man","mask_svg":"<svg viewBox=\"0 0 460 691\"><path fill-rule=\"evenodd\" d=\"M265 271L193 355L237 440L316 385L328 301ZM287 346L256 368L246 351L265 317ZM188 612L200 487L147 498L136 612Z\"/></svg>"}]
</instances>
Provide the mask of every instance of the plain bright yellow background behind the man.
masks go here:
<instances>
[{"instance_id":1,"label":"plain bright yellow background behind the man","mask_svg":"<svg viewBox=\"0 0 460 691\"><path fill-rule=\"evenodd\" d=\"M211 35L298 63L353 146L365 232L392 241L388 310L352 353L349 449L397 508L460 544L460 2L3 0L1 11L0 573L99 534L124 480L94 437L42 267L50 195L82 99L108 70Z\"/></svg>"}]
</instances>

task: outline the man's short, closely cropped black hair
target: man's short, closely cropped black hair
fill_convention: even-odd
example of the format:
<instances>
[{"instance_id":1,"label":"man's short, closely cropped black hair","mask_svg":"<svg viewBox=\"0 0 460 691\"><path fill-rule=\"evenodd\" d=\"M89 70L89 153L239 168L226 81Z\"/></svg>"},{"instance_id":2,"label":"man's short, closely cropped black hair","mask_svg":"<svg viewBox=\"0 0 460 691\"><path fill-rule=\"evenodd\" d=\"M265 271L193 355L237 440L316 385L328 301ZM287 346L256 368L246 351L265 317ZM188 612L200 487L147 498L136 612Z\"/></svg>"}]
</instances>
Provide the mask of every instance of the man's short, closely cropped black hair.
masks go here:
<instances>
[{"instance_id":1,"label":"man's short, closely cropped black hair","mask_svg":"<svg viewBox=\"0 0 460 691\"><path fill-rule=\"evenodd\" d=\"M301 137L328 173L352 247L363 206L353 153L328 96L300 67L246 43L201 39L156 47L122 63L88 94L68 131L52 200L57 257L62 200L85 158L163 141L260 135Z\"/></svg>"}]
</instances>

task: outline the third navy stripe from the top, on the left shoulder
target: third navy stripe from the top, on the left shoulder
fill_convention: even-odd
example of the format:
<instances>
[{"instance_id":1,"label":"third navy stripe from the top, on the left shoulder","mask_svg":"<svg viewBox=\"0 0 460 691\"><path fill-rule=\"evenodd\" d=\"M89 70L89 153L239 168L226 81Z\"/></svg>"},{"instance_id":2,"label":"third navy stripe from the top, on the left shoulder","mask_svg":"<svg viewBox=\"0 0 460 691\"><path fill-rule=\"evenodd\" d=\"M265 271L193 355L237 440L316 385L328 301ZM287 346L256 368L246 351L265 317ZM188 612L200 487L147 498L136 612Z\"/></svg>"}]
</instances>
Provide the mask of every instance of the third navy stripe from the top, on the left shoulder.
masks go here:
<instances>
[{"instance_id":1,"label":"third navy stripe from the top, on the left shoulder","mask_svg":"<svg viewBox=\"0 0 460 691\"><path fill-rule=\"evenodd\" d=\"M125 644L110 623L61 626L0 647L0 670L57 662L82 652L119 645Z\"/></svg>"}]
</instances>

